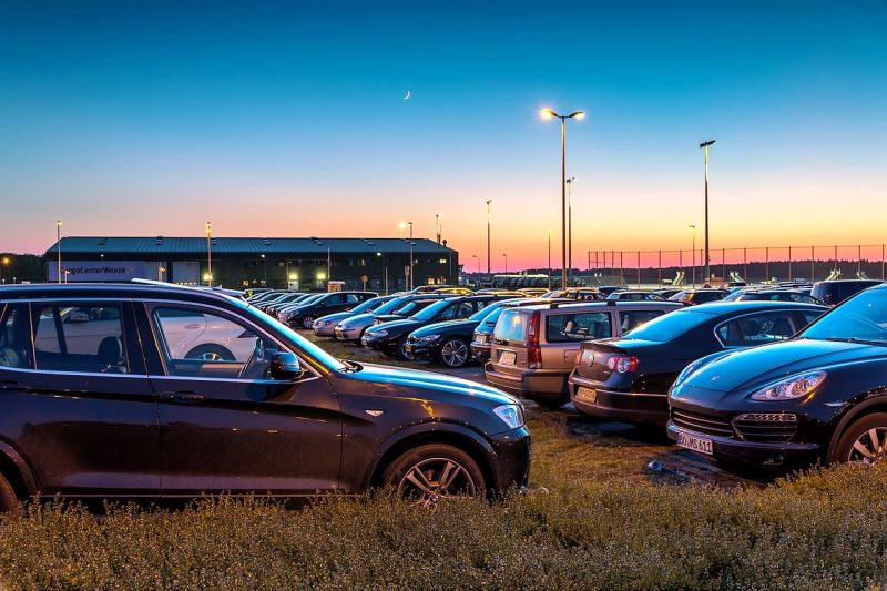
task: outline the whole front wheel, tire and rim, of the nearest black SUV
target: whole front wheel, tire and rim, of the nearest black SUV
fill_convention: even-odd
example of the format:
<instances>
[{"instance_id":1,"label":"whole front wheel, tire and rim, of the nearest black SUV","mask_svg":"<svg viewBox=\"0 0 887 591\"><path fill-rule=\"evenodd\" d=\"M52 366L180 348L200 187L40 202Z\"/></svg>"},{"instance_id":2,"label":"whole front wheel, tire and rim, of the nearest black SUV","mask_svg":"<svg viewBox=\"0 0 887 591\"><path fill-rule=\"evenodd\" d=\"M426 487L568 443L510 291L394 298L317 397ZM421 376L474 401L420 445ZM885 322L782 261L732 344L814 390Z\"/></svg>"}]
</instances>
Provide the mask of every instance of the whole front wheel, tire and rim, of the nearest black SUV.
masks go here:
<instances>
[{"instance_id":1,"label":"whole front wheel, tire and rim, of the nearest black SUV","mask_svg":"<svg viewBox=\"0 0 887 591\"><path fill-rule=\"evenodd\" d=\"M418 505L435 505L441 498L487 495L487 482L478 462L447 444L426 444L402 454L385 469L383 485Z\"/></svg>"}]
</instances>

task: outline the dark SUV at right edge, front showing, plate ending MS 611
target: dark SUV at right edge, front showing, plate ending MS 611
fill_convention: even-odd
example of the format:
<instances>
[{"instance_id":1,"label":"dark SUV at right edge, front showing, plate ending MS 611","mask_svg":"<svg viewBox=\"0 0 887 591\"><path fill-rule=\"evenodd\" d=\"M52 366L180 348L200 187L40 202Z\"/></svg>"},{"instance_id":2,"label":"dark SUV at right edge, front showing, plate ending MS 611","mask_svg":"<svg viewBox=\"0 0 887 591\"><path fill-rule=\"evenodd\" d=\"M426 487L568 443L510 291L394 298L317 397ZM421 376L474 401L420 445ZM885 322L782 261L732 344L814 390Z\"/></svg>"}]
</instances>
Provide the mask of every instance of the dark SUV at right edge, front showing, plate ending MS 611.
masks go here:
<instances>
[{"instance_id":1,"label":"dark SUV at right edge, front showing, plate ending MS 611","mask_svg":"<svg viewBox=\"0 0 887 591\"><path fill-rule=\"evenodd\" d=\"M887 446L887 286L791 340L691 364L669 398L669 436L726 463L782 470L881 459Z\"/></svg>"}]
</instances>

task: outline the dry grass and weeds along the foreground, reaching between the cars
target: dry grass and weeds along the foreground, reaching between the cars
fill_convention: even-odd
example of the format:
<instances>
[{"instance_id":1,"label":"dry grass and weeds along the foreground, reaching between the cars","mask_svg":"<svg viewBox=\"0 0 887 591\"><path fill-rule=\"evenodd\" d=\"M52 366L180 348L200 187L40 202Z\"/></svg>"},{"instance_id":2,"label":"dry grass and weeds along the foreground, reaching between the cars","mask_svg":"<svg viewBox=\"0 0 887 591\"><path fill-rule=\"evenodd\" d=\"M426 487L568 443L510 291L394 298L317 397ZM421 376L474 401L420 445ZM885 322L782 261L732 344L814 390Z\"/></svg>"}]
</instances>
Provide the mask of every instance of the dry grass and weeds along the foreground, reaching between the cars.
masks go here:
<instances>
[{"instance_id":1,"label":"dry grass and weeds along the foreground, reaching between the cars","mask_svg":"<svg viewBox=\"0 0 887 591\"><path fill-rule=\"evenodd\" d=\"M421 509L390 496L300 511L31 505L0 517L8 589L864 589L887 580L887 465L730 490L663 483L653 440L531 412L534 491Z\"/></svg>"}]
</instances>

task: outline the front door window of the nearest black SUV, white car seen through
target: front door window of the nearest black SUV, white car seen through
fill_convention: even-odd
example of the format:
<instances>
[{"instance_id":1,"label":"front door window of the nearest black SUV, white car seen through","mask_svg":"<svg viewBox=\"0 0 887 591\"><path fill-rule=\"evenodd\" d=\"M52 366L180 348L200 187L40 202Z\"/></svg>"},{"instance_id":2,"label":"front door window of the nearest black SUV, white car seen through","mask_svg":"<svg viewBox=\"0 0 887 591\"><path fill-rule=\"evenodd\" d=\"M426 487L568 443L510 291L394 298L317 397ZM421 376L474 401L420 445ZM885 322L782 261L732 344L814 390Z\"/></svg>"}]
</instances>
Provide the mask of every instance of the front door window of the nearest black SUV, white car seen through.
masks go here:
<instances>
[{"instance_id":1,"label":"front door window of the nearest black SUV, white car seen through","mask_svg":"<svg viewBox=\"0 0 887 591\"><path fill-rule=\"evenodd\" d=\"M208 310L156 307L151 319L171 376L220 379L268 377L277 345Z\"/></svg>"}]
</instances>

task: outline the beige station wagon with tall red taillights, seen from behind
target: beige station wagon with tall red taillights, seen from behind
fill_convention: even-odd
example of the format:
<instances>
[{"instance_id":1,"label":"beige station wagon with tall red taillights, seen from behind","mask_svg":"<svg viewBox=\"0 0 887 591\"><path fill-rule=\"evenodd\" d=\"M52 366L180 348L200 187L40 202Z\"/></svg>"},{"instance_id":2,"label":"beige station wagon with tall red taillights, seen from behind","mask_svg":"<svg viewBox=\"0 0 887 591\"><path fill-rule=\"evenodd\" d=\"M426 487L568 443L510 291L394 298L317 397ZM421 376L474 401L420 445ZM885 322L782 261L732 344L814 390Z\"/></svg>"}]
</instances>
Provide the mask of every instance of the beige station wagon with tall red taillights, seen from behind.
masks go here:
<instances>
[{"instance_id":1,"label":"beige station wagon with tall red taillights, seen from behind","mask_svg":"<svg viewBox=\"0 0 887 591\"><path fill-rule=\"evenodd\" d=\"M487 381L547 408L560 408L570 400L567 378L581 342L621 335L680 308L672 302L610 300L506 309L493 330Z\"/></svg>"}]
</instances>

